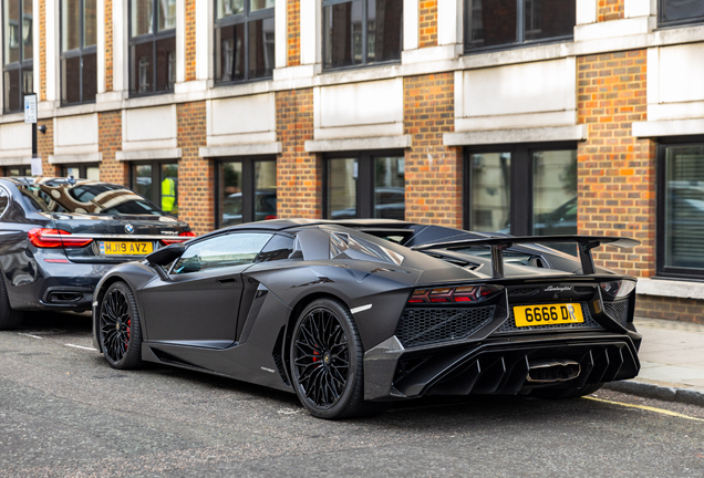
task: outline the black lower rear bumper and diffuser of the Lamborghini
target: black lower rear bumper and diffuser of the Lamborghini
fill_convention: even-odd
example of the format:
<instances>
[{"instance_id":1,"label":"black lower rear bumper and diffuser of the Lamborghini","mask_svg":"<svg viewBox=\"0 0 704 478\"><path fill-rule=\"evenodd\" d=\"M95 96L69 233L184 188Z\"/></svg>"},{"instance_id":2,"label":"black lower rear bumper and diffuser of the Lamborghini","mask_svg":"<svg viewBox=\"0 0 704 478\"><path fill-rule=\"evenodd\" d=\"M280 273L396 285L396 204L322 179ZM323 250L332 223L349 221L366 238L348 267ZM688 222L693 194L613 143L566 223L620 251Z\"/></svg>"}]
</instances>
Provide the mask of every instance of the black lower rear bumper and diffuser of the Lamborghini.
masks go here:
<instances>
[{"instance_id":1,"label":"black lower rear bumper and diffuser of the Lamborghini","mask_svg":"<svg viewBox=\"0 0 704 478\"><path fill-rule=\"evenodd\" d=\"M501 336L482 342L406 350L396 336L364 354L364 399L395 401L423 395L527 392L531 362L570 360L580 374L555 388L632 378L640 371L641 335L581 332Z\"/></svg>"}]
</instances>

